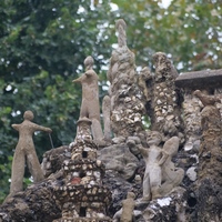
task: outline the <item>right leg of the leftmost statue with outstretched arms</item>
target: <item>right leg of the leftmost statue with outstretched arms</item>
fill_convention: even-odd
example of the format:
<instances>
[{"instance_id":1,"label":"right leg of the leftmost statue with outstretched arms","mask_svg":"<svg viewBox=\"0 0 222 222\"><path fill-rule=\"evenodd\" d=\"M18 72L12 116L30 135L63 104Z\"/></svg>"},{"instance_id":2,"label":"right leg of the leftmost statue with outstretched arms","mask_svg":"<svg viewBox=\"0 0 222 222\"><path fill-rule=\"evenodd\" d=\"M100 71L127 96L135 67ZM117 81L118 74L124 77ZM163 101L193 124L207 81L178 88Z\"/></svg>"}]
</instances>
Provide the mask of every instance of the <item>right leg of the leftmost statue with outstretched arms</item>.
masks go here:
<instances>
[{"instance_id":1,"label":"right leg of the leftmost statue with outstretched arms","mask_svg":"<svg viewBox=\"0 0 222 222\"><path fill-rule=\"evenodd\" d=\"M43 171L41 170L41 165L39 163L39 159L37 157L36 150L31 149L29 153L27 154L27 162L28 168L33 176L34 182L42 181L44 179Z\"/></svg>"}]
</instances>

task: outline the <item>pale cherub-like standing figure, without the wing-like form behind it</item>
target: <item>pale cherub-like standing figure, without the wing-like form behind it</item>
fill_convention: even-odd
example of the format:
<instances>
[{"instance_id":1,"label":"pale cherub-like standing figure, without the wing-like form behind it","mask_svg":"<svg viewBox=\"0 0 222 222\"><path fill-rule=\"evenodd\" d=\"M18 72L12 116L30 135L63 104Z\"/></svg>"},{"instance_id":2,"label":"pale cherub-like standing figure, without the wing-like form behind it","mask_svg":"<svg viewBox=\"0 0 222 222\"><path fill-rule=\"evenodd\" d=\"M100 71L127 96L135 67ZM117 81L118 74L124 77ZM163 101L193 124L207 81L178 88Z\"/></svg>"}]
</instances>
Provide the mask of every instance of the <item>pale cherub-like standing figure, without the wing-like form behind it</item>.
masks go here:
<instances>
[{"instance_id":1,"label":"pale cherub-like standing figure, without the wing-like form behind it","mask_svg":"<svg viewBox=\"0 0 222 222\"><path fill-rule=\"evenodd\" d=\"M155 196L159 196L159 189L162 181L162 150L159 144L162 141L162 137L159 132L152 131L150 137L147 138L149 149L139 147L139 150L145 161L145 172L143 178L143 196L142 202L149 202Z\"/></svg>"}]
</instances>

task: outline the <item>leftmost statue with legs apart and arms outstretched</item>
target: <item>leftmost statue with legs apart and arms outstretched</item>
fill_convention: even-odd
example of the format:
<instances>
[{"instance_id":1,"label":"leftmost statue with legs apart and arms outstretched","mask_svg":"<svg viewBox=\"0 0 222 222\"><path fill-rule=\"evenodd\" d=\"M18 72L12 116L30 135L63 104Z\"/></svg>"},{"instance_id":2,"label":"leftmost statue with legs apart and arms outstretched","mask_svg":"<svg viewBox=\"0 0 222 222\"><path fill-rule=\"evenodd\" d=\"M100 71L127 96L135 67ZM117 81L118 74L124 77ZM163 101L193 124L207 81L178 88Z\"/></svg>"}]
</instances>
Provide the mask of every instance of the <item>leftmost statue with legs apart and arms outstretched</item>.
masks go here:
<instances>
[{"instance_id":1,"label":"leftmost statue with legs apart and arms outstretched","mask_svg":"<svg viewBox=\"0 0 222 222\"><path fill-rule=\"evenodd\" d=\"M34 150L32 134L36 131L46 131L51 133L52 130L50 128L44 128L31 122L33 118L34 115L31 111L26 111L23 114L24 121L21 124L12 124L12 128L19 131L19 142L16 147L12 161L10 194L23 190L26 159L29 171L33 176L33 181L39 182L44 179L41 165Z\"/></svg>"}]
</instances>

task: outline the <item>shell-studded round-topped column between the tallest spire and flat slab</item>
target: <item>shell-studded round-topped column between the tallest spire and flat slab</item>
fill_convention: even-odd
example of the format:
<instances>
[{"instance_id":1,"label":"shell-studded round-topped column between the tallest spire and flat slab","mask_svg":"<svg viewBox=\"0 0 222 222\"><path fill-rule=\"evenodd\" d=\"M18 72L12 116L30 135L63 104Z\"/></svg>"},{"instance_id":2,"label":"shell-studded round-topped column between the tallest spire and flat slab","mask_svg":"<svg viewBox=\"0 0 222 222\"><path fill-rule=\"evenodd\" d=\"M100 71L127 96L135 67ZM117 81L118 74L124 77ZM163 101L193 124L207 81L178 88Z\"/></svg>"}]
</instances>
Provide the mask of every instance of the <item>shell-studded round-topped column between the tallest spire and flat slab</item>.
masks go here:
<instances>
[{"instance_id":1,"label":"shell-studded round-topped column between the tallest spire and flat slab","mask_svg":"<svg viewBox=\"0 0 222 222\"><path fill-rule=\"evenodd\" d=\"M168 57L162 52L153 56L155 67L153 87L152 130L163 133L169 139L183 133L180 97L175 89L178 72ZM180 135L182 138L182 134Z\"/></svg>"}]
</instances>

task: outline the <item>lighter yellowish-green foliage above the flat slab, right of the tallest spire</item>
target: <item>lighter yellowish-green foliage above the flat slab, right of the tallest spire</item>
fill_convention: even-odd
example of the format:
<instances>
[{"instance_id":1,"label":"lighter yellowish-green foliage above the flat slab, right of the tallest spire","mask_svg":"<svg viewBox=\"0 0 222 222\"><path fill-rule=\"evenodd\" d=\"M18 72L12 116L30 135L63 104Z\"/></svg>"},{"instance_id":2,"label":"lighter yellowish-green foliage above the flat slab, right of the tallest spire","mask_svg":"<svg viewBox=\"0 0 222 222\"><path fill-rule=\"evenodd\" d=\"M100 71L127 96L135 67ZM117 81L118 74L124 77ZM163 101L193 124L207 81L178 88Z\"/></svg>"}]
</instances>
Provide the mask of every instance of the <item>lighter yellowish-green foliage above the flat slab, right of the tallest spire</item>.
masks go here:
<instances>
[{"instance_id":1,"label":"lighter yellowish-green foliage above the flat slab, right of the tallest spire","mask_svg":"<svg viewBox=\"0 0 222 222\"><path fill-rule=\"evenodd\" d=\"M128 23L128 42L139 65L150 65L163 51L179 71L222 67L221 1L161 0L113 1Z\"/></svg>"}]
</instances>

